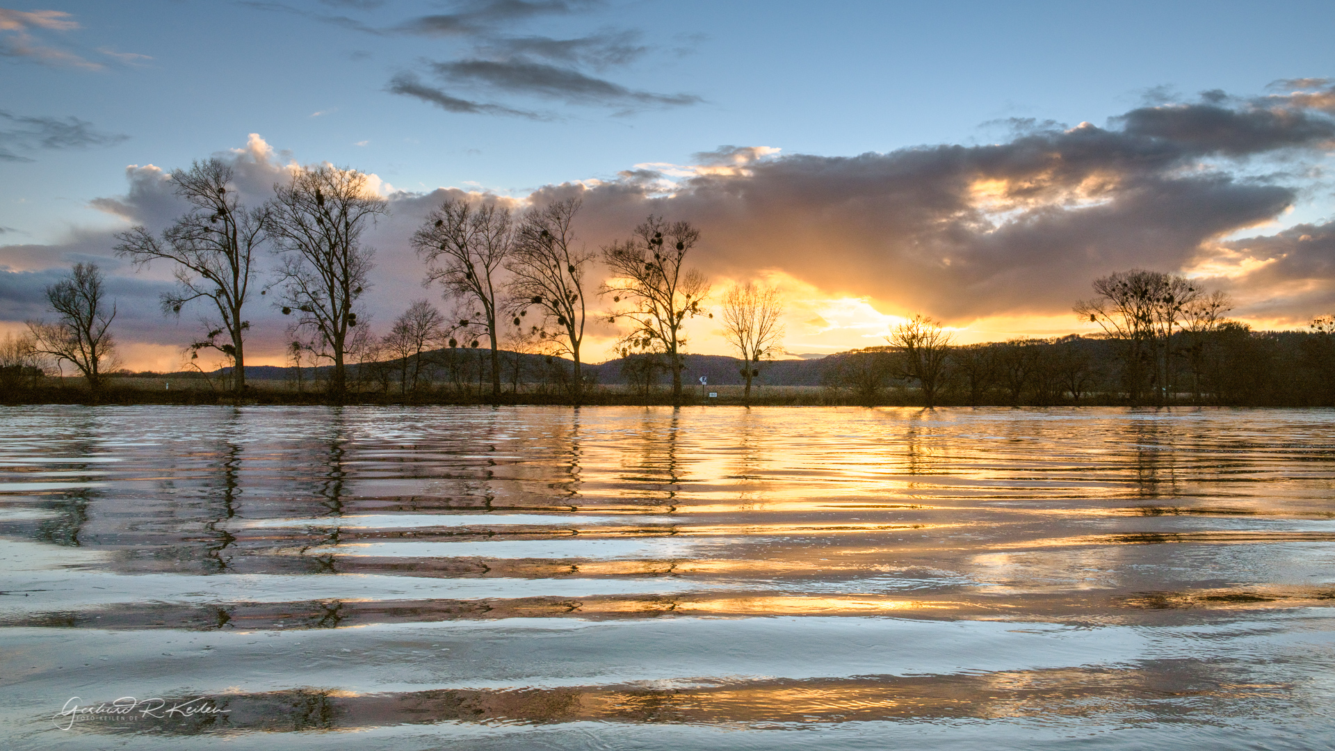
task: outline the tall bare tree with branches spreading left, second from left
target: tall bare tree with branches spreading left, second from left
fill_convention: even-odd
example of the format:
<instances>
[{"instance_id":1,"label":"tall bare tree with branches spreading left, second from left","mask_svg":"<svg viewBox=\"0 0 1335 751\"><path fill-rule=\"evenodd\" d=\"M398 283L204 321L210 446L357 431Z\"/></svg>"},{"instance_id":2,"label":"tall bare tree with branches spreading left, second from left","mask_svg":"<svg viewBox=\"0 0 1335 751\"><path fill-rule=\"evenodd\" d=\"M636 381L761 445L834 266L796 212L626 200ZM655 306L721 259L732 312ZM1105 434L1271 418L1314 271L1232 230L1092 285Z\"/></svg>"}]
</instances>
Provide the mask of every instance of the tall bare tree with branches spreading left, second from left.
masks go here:
<instances>
[{"instance_id":1,"label":"tall bare tree with branches spreading left, second from left","mask_svg":"<svg viewBox=\"0 0 1335 751\"><path fill-rule=\"evenodd\" d=\"M163 294L164 314L180 315L182 307L196 299L212 303L214 310L204 317L208 333L191 342L190 349L223 353L232 362L234 388L243 392L244 333L250 329L243 307L254 278L255 249L264 239L264 210L247 210L236 191L227 190L232 168L220 159L195 162L188 171L174 171L171 178L176 195L191 204L190 211L163 230L162 238L143 226L117 234L116 255L129 258L135 266L155 259L175 263L176 290ZM224 333L227 341L219 342Z\"/></svg>"}]
</instances>

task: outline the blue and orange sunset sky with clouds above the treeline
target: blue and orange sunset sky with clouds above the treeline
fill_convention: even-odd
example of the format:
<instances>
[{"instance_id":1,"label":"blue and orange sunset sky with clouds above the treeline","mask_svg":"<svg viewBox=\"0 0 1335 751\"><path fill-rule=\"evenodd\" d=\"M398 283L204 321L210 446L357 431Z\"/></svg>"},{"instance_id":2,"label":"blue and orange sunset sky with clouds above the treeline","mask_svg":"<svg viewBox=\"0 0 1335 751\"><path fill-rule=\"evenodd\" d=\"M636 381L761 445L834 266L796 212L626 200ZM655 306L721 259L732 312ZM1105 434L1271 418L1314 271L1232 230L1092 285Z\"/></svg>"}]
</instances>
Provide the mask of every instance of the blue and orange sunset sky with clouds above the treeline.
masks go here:
<instances>
[{"instance_id":1,"label":"blue and orange sunset sky with clouds above the treeline","mask_svg":"<svg viewBox=\"0 0 1335 751\"><path fill-rule=\"evenodd\" d=\"M0 331L96 262L125 365L172 370L198 313L115 233L183 211L219 156L251 204L294 164L372 175L371 326L422 286L450 196L578 196L590 249L653 212L713 281L777 286L789 353L1088 330L1091 282L1185 274L1256 329L1335 313L1331 3L67 1L0 8ZM271 267L274 261L266 258ZM597 274L595 274L597 275ZM280 363L256 299L247 361ZM717 318L690 350L728 354ZM586 359L615 331L590 330Z\"/></svg>"}]
</instances>

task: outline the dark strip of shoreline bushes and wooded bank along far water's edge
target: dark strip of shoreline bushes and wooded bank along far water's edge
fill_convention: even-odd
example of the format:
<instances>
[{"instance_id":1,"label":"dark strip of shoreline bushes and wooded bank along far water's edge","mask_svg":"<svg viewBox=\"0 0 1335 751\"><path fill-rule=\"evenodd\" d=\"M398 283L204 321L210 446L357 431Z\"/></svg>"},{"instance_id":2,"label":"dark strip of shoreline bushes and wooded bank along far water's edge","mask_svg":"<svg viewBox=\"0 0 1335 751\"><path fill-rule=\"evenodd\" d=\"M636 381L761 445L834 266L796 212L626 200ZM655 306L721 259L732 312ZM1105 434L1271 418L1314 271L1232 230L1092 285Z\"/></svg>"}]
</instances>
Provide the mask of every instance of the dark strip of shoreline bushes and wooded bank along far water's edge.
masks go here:
<instances>
[{"instance_id":1,"label":"dark strip of shoreline bushes and wooded bank along far water's edge","mask_svg":"<svg viewBox=\"0 0 1335 751\"><path fill-rule=\"evenodd\" d=\"M0 365L0 404L1335 406L1335 338L1326 331L1223 326L1173 338L1167 376L1157 380L1145 378L1125 341L1109 337L947 346L932 394L902 346L764 362L688 354L680 392L668 381L666 358L651 353L585 363L575 388L569 359L499 350L494 374L490 351L442 347L351 363L342 389L331 386L330 366L251 366L240 393L228 367L119 370L92 389L81 376ZM1164 381L1171 388L1152 388ZM1128 382L1149 388L1131 392Z\"/></svg>"}]
</instances>

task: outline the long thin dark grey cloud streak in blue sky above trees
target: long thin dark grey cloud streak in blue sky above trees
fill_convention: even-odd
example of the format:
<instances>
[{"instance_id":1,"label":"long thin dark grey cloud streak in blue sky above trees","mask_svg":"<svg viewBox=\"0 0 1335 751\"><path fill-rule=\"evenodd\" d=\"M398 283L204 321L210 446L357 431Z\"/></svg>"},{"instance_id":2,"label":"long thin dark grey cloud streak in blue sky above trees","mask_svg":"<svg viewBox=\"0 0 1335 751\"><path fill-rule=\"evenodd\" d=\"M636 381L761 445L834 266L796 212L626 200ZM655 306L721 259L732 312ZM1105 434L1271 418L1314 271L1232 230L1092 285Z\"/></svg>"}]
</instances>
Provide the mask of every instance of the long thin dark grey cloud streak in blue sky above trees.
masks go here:
<instances>
[{"instance_id":1,"label":"long thin dark grey cloud streak in blue sky above trees","mask_svg":"<svg viewBox=\"0 0 1335 751\"><path fill-rule=\"evenodd\" d=\"M693 94L634 91L609 80L587 76L573 68L519 59L433 63L431 69L449 80L483 84L503 92L533 94L578 104L680 107L702 102Z\"/></svg>"}]
</instances>

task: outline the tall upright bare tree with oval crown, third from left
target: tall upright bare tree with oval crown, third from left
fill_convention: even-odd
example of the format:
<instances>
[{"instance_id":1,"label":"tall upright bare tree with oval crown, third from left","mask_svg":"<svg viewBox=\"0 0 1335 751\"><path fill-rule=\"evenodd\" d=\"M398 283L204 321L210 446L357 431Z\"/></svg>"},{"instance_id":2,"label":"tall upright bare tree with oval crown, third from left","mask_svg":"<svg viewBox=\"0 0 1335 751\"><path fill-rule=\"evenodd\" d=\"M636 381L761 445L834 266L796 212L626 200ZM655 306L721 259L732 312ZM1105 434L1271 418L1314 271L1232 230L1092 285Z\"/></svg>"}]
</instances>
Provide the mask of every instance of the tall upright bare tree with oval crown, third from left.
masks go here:
<instances>
[{"instance_id":1,"label":"tall upright bare tree with oval crown, third from left","mask_svg":"<svg viewBox=\"0 0 1335 751\"><path fill-rule=\"evenodd\" d=\"M328 164L298 170L274 192L264 227L283 259L274 282L282 287L279 305L284 315L296 311L294 330L314 334L311 351L334 362L330 392L343 396L350 329L364 313L359 299L375 253L362 245L362 233L388 206L370 192L363 172Z\"/></svg>"}]
</instances>

